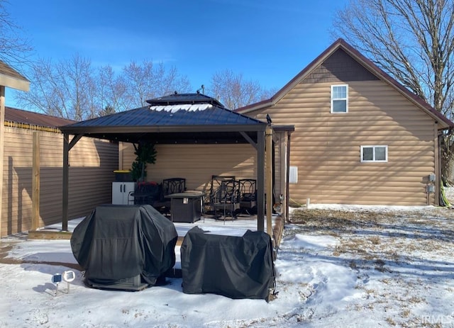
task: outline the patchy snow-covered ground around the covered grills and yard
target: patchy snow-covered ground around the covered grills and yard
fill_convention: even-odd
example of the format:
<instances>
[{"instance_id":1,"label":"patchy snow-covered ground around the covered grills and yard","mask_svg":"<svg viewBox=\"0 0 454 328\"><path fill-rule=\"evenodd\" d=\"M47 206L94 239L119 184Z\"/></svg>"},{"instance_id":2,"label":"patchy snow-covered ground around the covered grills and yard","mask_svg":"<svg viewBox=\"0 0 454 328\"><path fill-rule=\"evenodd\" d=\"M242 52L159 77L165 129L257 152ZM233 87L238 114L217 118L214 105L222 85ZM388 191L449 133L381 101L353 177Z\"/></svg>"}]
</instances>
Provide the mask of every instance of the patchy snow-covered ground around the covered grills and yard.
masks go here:
<instances>
[{"instance_id":1,"label":"patchy snow-covered ground around the covered grills and yard","mask_svg":"<svg viewBox=\"0 0 454 328\"><path fill-rule=\"evenodd\" d=\"M1 261L17 262L0 263L0 327L454 327L453 220L448 208L293 209L271 302L187 295L178 278L134 293L91 289L69 241L0 239ZM226 227L254 230L255 221ZM62 283L55 296L52 275L69 269L70 293Z\"/></svg>"}]
</instances>

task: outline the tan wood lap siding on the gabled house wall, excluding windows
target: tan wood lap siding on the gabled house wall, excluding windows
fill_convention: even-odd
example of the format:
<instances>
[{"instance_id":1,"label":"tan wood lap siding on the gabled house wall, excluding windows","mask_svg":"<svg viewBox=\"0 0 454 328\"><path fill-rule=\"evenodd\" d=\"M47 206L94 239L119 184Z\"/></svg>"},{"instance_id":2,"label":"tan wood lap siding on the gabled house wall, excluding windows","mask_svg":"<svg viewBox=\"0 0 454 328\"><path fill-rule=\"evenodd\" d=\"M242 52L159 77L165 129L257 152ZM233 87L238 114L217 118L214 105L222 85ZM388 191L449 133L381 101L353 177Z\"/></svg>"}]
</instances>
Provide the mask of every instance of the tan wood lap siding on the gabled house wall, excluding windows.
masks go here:
<instances>
[{"instance_id":1,"label":"tan wood lap siding on the gabled house wall, excluding windows","mask_svg":"<svg viewBox=\"0 0 454 328\"><path fill-rule=\"evenodd\" d=\"M304 204L426 205L435 173L434 121L380 80L348 84L348 113L330 113L331 82L298 84L266 113L293 124L290 165L299 182L290 198ZM361 163L361 145L387 145L387 163ZM433 203L433 194L431 196Z\"/></svg>"}]
</instances>

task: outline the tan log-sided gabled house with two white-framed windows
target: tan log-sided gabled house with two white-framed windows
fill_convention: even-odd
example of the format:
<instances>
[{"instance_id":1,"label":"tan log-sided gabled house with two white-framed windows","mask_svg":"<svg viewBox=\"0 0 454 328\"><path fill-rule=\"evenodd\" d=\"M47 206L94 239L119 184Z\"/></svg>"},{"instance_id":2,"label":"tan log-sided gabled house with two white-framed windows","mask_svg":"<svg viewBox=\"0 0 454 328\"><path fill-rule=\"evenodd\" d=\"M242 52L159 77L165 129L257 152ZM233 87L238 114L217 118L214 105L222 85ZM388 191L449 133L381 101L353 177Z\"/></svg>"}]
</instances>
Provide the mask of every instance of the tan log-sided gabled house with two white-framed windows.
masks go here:
<instances>
[{"instance_id":1,"label":"tan log-sided gabled house with two white-framed windows","mask_svg":"<svg viewBox=\"0 0 454 328\"><path fill-rule=\"evenodd\" d=\"M294 125L291 203L438 204L438 135L453 123L342 39L237 112Z\"/></svg>"}]
</instances>

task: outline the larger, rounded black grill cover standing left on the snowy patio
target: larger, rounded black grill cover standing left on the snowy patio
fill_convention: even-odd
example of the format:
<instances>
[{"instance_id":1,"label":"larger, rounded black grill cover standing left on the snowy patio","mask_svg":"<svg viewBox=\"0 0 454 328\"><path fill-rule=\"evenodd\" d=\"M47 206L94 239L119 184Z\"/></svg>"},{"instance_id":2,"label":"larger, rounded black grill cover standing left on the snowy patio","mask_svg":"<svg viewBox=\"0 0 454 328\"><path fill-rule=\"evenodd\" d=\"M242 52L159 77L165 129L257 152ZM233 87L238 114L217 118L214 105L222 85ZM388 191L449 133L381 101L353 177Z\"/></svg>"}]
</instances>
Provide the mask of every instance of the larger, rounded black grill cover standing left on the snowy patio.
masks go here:
<instances>
[{"instance_id":1,"label":"larger, rounded black grill cover standing left on the snowy patio","mask_svg":"<svg viewBox=\"0 0 454 328\"><path fill-rule=\"evenodd\" d=\"M141 275L150 285L175 266L177 230L151 205L101 205L77 225L71 248L86 283Z\"/></svg>"}]
</instances>

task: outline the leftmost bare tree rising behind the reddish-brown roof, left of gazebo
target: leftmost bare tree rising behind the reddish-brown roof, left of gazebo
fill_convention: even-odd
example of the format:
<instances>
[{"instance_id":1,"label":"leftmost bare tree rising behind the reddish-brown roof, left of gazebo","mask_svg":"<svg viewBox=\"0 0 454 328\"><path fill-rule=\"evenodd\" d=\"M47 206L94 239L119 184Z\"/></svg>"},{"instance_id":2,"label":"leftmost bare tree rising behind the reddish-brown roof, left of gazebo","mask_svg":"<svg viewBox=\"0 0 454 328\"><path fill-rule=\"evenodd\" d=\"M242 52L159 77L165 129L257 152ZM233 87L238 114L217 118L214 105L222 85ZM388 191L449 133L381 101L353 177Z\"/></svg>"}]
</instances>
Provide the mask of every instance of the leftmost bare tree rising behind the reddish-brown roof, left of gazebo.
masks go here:
<instances>
[{"instance_id":1,"label":"leftmost bare tree rising behind the reddish-brown roof, left of gazebo","mask_svg":"<svg viewBox=\"0 0 454 328\"><path fill-rule=\"evenodd\" d=\"M23 108L72 120L94 118L102 108L91 61L79 55L56 64L40 59L33 64L29 77L30 92L16 93Z\"/></svg>"}]
</instances>

